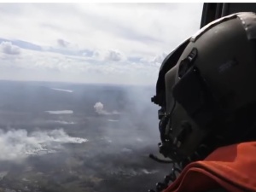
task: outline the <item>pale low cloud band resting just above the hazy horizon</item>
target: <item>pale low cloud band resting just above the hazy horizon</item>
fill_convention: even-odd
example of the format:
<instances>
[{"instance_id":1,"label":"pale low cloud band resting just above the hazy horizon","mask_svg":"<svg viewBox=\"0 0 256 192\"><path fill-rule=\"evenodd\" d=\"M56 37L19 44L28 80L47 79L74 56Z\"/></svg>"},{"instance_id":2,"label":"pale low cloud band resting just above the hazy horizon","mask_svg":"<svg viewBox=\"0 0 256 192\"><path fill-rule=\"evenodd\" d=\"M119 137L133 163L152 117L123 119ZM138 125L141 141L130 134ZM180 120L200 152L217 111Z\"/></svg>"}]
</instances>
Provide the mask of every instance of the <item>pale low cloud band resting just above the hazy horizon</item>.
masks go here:
<instances>
[{"instance_id":1,"label":"pale low cloud band resting just above the hazy horizon","mask_svg":"<svg viewBox=\"0 0 256 192\"><path fill-rule=\"evenodd\" d=\"M154 84L159 70L158 66L143 62L105 61L27 49L22 49L19 57L0 53L0 60L1 79L13 80Z\"/></svg>"}]
</instances>

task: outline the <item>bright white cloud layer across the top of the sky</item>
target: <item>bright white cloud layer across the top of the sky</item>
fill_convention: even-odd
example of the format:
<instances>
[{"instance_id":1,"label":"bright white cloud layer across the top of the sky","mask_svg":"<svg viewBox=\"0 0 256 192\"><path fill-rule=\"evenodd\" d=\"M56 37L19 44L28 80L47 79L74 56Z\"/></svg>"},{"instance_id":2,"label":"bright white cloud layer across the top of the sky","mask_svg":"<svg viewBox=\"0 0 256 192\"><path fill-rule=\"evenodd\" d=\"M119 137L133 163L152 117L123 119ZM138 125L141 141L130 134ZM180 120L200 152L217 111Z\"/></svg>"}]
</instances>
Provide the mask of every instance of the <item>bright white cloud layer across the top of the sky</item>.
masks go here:
<instances>
[{"instance_id":1,"label":"bright white cloud layer across the top of the sky","mask_svg":"<svg viewBox=\"0 0 256 192\"><path fill-rule=\"evenodd\" d=\"M4 37L43 45L61 38L81 48L130 54L169 51L179 44L199 28L202 3L24 3L0 8L5 10L0 14Z\"/></svg>"}]
</instances>

